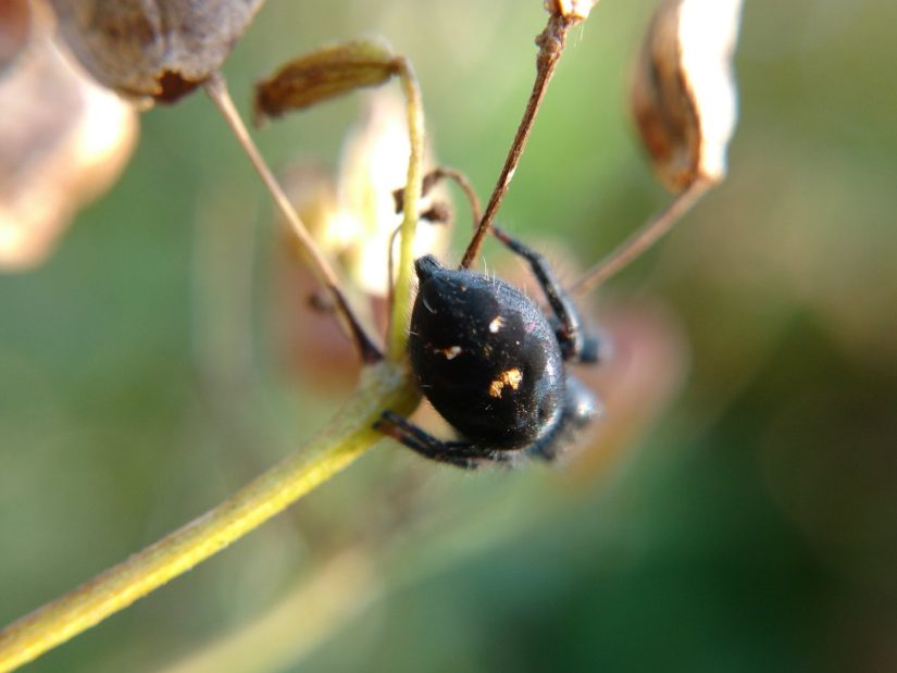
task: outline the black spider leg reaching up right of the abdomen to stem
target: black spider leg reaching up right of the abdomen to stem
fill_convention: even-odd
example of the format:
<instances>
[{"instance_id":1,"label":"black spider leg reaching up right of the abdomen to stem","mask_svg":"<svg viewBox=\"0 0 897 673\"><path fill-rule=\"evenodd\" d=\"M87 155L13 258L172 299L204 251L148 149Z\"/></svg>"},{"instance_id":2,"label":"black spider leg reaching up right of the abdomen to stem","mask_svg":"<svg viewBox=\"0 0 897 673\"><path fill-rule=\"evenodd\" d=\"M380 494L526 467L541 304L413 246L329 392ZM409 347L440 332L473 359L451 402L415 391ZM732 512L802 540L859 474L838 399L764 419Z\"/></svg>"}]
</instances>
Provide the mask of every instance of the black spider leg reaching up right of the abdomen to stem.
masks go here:
<instances>
[{"instance_id":1,"label":"black spider leg reaching up right of the abdomen to stem","mask_svg":"<svg viewBox=\"0 0 897 673\"><path fill-rule=\"evenodd\" d=\"M512 252L530 262L533 275L539 282L557 319L555 334L561 346L563 359L577 362L597 362L600 351L599 341L597 338L584 333L580 312L561 287L561 284L558 283L548 261L540 253L510 236L504 229L493 225L493 234Z\"/></svg>"}]
</instances>

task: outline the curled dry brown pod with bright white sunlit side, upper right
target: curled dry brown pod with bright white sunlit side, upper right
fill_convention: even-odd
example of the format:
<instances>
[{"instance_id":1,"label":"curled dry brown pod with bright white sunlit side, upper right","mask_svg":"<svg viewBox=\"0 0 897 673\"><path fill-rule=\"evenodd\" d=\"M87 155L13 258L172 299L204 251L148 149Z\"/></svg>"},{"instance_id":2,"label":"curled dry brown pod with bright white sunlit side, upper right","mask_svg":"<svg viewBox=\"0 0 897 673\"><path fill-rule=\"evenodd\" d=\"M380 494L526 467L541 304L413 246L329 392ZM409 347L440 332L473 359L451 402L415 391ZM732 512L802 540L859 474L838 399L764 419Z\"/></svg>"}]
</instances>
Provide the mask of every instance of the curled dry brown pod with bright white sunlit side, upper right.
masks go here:
<instances>
[{"instance_id":1,"label":"curled dry brown pod with bright white sunlit side, upper right","mask_svg":"<svg viewBox=\"0 0 897 673\"><path fill-rule=\"evenodd\" d=\"M740 12L742 0L663 0L645 39L632 104L655 170L672 191L725 175Z\"/></svg>"}]
</instances>

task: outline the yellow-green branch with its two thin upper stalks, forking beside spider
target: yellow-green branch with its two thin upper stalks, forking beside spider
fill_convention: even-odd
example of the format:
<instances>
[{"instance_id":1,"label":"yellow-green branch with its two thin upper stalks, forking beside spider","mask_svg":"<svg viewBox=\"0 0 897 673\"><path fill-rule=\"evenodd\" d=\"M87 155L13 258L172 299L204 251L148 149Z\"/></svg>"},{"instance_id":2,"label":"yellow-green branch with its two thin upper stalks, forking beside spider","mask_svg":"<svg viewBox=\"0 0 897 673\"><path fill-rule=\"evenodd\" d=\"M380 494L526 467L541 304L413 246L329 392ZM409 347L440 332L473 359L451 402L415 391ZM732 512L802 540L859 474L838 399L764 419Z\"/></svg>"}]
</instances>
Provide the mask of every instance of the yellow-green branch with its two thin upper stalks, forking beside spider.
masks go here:
<instances>
[{"instance_id":1,"label":"yellow-green branch with its two thin upper stalks, forking beside spider","mask_svg":"<svg viewBox=\"0 0 897 673\"><path fill-rule=\"evenodd\" d=\"M420 401L420 391L409 382L404 366L397 366L397 363L404 359L406 350L404 319L410 302L412 245L423 175L423 110L414 74L404 59L400 59L400 77L409 101L411 157L404 198L410 208L406 210L402 222L397 299L389 333L389 361L365 367L359 388L342 410L314 439L281 464L199 519L0 632L0 673L36 659L126 608L224 549L319 484L326 482L383 437L373 426L385 410L389 409L397 413L410 413L414 410ZM344 317L349 323L350 335L359 339L356 328L360 331L360 327L336 286L333 270L317 251L258 149L249 139L223 78L220 75L213 76L207 85L207 90L299 237L313 262L315 274L334 294L337 304L344 311ZM361 336L363 337L363 333ZM357 342L364 356L363 342ZM379 360L379 351L372 345L370 347L373 350L369 351L367 356L373 352ZM365 361L371 360L365 358Z\"/></svg>"}]
</instances>

